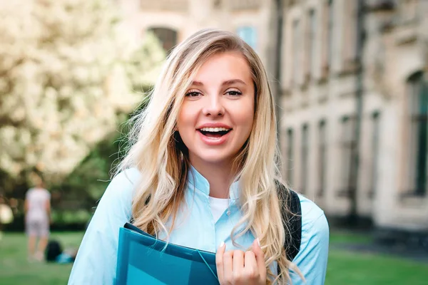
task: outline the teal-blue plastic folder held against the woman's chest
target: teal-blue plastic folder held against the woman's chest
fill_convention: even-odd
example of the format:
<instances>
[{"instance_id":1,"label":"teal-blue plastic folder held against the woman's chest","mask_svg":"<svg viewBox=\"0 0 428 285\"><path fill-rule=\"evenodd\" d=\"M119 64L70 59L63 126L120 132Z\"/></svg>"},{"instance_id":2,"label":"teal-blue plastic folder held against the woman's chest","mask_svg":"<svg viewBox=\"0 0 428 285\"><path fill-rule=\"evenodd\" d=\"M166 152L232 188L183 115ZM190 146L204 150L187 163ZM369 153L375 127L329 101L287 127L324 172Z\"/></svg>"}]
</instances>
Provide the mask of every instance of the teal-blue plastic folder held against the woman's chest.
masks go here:
<instances>
[{"instance_id":1,"label":"teal-blue plastic folder held against the woman's chest","mask_svg":"<svg viewBox=\"0 0 428 285\"><path fill-rule=\"evenodd\" d=\"M127 223L119 231L115 283L218 285L215 253L167 245Z\"/></svg>"}]
</instances>

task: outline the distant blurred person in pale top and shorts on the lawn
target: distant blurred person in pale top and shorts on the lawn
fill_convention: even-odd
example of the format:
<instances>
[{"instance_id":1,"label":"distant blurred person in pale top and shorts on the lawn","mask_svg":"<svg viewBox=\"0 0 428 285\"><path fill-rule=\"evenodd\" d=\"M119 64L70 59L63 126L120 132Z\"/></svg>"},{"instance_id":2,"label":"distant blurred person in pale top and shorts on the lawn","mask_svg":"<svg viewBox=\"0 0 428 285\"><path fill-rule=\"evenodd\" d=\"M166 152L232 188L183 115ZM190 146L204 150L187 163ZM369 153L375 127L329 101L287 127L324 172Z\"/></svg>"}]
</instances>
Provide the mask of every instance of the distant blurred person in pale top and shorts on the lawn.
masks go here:
<instances>
[{"instance_id":1,"label":"distant blurred person in pale top and shorts on the lawn","mask_svg":"<svg viewBox=\"0 0 428 285\"><path fill-rule=\"evenodd\" d=\"M51 222L51 193L45 189L44 182L40 181L36 187L26 192L24 210L29 260L42 261ZM37 239L39 244L36 244Z\"/></svg>"}]
</instances>

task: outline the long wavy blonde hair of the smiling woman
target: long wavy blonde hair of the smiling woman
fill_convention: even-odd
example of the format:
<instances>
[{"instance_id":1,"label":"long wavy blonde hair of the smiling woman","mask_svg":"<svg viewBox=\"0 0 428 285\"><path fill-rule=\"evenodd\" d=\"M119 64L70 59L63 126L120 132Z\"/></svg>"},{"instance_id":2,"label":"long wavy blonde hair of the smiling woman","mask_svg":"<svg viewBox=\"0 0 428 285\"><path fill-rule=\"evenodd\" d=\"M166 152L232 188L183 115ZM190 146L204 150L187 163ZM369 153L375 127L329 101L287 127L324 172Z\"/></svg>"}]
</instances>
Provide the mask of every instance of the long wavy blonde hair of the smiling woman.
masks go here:
<instances>
[{"instance_id":1,"label":"long wavy blonde hair of the smiling woman","mask_svg":"<svg viewBox=\"0 0 428 285\"><path fill-rule=\"evenodd\" d=\"M268 283L275 276L270 267L277 261L277 281L290 281L292 263L285 254L286 235L280 205L285 207L287 193L278 193L275 179L279 172L276 140L275 102L270 92L263 63L247 43L234 33L204 29L176 46L148 98L148 105L135 118L131 131L133 145L119 171L137 167L143 180L133 198L133 224L151 234L169 234L183 202L190 162L187 147L180 140L176 121L192 76L210 56L237 51L248 61L255 86L253 130L234 167L240 178L240 202L243 218L235 225L235 239L248 230L260 239L266 257ZM287 209L285 209L287 210ZM169 229L166 222L171 223ZM246 225L243 231L237 229Z\"/></svg>"}]
</instances>

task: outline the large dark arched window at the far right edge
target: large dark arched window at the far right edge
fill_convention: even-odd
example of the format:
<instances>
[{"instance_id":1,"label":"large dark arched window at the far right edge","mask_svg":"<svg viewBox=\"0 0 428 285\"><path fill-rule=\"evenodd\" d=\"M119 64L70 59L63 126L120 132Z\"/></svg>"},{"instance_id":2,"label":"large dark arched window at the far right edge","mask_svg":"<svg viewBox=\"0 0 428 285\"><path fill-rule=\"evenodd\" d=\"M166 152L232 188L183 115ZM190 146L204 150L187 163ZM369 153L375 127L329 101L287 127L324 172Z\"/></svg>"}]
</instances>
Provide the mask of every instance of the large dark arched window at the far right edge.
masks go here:
<instances>
[{"instance_id":1,"label":"large dark arched window at the far right edge","mask_svg":"<svg viewBox=\"0 0 428 285\"><path fill-rule=\"evenodd\" d=\"M427 193L427 128L428 88L422 72L415 73L407 81L410 115L410 192L414 195Z\"/></svg>"}]
</instances>

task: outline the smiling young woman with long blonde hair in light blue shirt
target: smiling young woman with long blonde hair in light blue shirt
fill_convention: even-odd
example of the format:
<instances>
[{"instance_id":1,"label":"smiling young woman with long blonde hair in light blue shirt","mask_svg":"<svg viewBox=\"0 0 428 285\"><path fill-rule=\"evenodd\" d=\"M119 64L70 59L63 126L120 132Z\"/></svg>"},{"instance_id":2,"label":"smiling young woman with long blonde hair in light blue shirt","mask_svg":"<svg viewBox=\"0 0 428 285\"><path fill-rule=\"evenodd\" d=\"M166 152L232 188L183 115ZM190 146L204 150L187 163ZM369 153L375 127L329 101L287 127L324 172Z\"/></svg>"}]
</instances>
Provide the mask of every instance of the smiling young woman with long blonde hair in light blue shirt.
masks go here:
<instances>
[{"instance_id":1,"label":"smiling young woman with long blonde hair in light blue shirt","mask_svg":"<svg viewBox=\"0 0 428 285\"><path fill-rule=\"evenodd\" d=\"M131 219L168 242L217 252L220 284L303 284L301 276L323 284L327 220L303 196L300 252L292 261L285 254L276 133L265 69L248 44L218 30L180 43L138 115L68 284L113 284L118 231Z\"/></svg>"}]
</instances>

